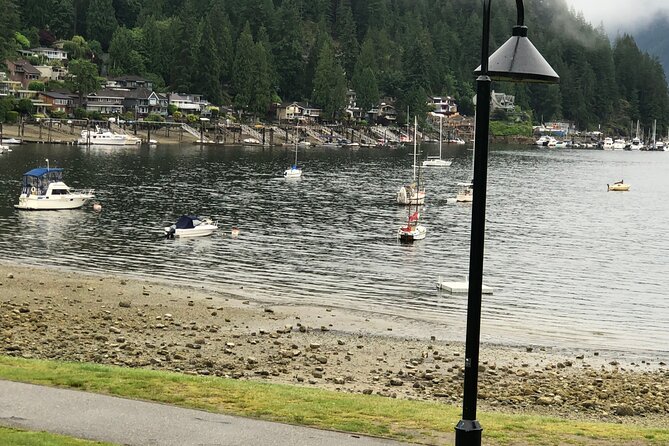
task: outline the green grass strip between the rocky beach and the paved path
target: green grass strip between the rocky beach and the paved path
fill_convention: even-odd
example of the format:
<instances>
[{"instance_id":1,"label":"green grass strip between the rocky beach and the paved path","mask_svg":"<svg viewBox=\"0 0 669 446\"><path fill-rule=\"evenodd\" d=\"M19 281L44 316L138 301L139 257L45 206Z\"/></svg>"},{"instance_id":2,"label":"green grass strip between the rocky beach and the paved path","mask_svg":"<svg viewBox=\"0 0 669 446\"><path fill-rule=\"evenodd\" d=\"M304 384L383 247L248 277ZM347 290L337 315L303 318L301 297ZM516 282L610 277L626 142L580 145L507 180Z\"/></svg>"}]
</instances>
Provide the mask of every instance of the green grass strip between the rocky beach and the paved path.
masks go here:
<instances>
[{"instance_id":1,"label":"green grass strip between the rocky beach and the paved path","mask_svg":"<svg viewBox=\"0 0 669 446\"><path fill-rule=\"evenodd\" d=\"M460 419L459 407L430 402L3 356L0 379L426 444L452 444ZM479 420L486 445L669 444L669 429L498 413Z\"/></svg>"}]
</instances>

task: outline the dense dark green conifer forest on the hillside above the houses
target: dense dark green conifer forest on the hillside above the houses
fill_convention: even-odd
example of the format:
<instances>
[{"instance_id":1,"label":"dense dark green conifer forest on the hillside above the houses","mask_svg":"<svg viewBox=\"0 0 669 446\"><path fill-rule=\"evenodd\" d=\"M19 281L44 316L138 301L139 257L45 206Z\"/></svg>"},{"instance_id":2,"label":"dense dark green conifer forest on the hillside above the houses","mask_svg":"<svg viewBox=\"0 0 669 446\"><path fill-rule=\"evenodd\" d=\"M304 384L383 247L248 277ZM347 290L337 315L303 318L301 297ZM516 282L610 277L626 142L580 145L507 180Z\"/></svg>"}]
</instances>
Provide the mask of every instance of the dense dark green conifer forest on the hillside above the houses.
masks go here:
<instances>
[{"instance_id":1,"label":"dense dark green conifer forest on the hillside above the houses","mask_svg":"<svg viewBox=\"0 0 669 446\"><path fill-rule=\"evenodd\" d=\"M428 95L449 95L469 115L481 9L472 0L0 0L0 60L66 40L71 58L102 74L142 75L252 113L300 100L336 119L352 88L363 108L387 97L397 110L427 111ZM493 2L493 50L515 17L515 1ZM631 36L611 43L564 0L525 1L525 23L561 83L493 88L535 122L666 128L664 70Z\"/></svg>"}]
</instances>

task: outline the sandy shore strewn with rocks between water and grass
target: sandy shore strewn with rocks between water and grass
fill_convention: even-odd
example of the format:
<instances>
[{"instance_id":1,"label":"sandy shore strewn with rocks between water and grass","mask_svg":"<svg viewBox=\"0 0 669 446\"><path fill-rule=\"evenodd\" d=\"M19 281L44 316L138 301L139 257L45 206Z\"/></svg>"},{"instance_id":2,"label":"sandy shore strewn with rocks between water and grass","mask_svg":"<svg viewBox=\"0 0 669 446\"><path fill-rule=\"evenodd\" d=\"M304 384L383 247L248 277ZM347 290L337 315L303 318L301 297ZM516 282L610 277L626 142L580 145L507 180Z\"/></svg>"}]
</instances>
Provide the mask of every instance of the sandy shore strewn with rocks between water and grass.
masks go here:
<instances>
[{"instance_id":1,"label":"sandy shore strewn with rocks between water and grass","mask_svg":"<svg viewBox=\"0 0 669 446\"><path fill-rule=\"evenodd\" d=\"M412 320L6 264L0 296L0 354L461 404L464 346ZM479 389L484 410L669 424L659 361L486 344Z\"/></svg>"}]
</instances>

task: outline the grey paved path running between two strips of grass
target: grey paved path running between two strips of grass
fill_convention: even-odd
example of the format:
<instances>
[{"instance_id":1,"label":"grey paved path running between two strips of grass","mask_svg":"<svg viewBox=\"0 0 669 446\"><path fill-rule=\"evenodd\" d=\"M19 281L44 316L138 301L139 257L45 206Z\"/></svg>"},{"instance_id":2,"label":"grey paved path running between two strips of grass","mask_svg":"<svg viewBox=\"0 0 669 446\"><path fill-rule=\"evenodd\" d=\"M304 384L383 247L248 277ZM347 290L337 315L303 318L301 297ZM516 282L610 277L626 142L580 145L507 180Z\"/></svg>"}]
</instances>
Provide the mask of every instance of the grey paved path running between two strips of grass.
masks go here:
<instances>
[{"instance_id":1,"label":"grey paved path running between two strips of grass","mask_svg":"<svg viewBox=\"0 0 669 446\"><path fill-rule=\"evenodd\" d=\"M0 425L137 446L399 446L321 431L0 380Z\"/></svg>"}]
</instances>

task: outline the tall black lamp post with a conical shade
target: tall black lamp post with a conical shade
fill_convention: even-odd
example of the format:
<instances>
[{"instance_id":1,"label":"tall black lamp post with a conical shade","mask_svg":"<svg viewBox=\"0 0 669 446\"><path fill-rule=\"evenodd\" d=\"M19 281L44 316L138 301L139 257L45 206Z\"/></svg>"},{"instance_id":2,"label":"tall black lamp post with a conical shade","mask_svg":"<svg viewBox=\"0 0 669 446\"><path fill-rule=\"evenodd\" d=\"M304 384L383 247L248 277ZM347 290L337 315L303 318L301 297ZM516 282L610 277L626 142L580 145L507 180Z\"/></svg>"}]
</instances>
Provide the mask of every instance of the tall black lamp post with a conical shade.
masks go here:
<instances>
[{"instance_id":1,"label":"tall black lamp post with a conical shade","mask_svg":"<svg viewBox=\"0 0 669 446\"><path fill-rule=\"evenodd\" d=\"M479 343L481 338L481 287L488 175L488 132L492 80L557 83L560 77L527 38L523 0L516 0L517 21L513 34L490 54L490 2L483 0L481 65L476 79L476 135L474 137L474 198L469 248L469 293L467 296L467 337L465 341L465 382L462 419L455 427L456 446L481 444L483 428L476 419Z\"/></svg>"}]
</instances>

